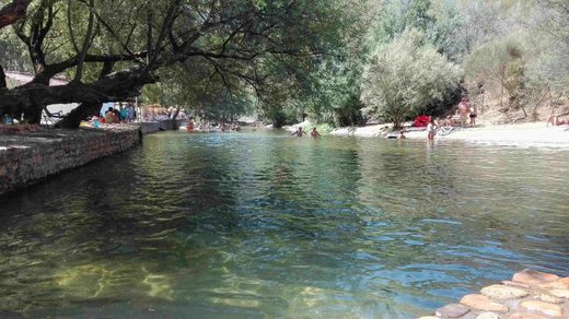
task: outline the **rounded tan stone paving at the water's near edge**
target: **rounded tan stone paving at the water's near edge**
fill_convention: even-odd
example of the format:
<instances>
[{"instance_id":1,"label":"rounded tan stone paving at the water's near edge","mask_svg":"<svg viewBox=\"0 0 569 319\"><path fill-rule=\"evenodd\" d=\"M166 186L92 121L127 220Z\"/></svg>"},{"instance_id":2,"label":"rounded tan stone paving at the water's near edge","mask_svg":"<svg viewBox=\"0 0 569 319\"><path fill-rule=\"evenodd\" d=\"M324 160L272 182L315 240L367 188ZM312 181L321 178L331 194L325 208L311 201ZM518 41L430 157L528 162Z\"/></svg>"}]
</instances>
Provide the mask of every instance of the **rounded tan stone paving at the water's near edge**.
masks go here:
<instances>
[{"instance_id":1,"label":"rounded tan stone paving at the water's near edge","mask_svg":"<svg viewBox=\"0 0 569 319\"><path fill-rule=\"evenodd\" d=\"M419 319L536 319L569 318L569 277L524 270L511 281L464 296L460 304L437 309Z\"/></svg>"}]
</instances>

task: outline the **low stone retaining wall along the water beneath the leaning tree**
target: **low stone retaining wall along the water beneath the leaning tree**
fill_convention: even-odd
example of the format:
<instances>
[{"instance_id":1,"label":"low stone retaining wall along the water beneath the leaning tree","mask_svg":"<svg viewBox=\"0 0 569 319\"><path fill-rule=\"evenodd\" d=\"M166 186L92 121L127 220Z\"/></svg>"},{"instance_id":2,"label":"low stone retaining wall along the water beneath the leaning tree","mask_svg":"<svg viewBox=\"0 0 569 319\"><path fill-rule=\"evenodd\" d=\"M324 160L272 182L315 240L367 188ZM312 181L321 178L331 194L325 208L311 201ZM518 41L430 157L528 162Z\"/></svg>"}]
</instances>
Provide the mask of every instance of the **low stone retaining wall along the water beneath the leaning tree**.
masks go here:
<instances>
[{"instance_id":1,"label":"low stone retaining wall along the water beneath the leaning tree","mask_svg":"<svg viewBox=\"0 0 569 319\"><path fill-rule=\"evenodd\" d=\"M0 194L139 144L135 125L56 130L0 128Z\"/></svg>"}]
</instances>

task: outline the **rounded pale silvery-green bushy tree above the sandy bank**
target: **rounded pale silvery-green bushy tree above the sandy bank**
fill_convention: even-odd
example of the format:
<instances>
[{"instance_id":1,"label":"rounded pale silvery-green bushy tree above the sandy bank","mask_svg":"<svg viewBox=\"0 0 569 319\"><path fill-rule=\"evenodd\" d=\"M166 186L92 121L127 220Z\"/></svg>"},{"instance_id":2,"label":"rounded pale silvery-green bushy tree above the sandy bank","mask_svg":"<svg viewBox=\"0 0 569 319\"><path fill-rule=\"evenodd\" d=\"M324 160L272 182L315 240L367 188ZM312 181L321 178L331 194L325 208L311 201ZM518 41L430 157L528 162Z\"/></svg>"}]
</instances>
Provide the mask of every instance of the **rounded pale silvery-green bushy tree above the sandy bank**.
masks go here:
<instances>
[{"instance_id":1,"label":"rounded pale silvery-green bushy tree above the sandy bank","mask_svg":"<svg viewBox=\"0 0 569 319\"><path fill-rule=\"evenodd\" d=\"M422 43L423 34L407 31L373 56L362 84L369 113L399 125L455 90L458 67Z\"/></svg>"}]
</instances>

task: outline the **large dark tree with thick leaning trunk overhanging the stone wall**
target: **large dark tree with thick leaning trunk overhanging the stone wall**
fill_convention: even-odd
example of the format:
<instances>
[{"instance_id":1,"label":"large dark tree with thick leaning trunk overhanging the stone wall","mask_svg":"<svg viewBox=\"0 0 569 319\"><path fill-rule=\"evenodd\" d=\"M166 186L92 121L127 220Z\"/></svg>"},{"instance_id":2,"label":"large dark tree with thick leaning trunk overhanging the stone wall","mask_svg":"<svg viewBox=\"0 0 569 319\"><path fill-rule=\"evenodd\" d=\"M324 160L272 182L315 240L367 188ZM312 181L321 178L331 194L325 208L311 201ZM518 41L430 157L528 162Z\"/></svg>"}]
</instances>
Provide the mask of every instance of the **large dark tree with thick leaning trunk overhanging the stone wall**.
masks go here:
<instances>
[{"instance_id":1,"label":"large dark tree with thick leaning trunk overhanging the stone wall","mask_svg":"<svg viewBox=\"0 0 569 319\"><path fill-rule=\"evenodd\" d=\"M34 80L0 88L0 116L38 122L49 104L80 103L60 122L77 127L101 103L139 95L159 81L160 70L196 62L208 66L206 79L258 94L269 91L271 80L302 81L298 74L309 74L340 38L340 2L35 1L13 27L27 48ZM59 73L72 81L50 86Z\"/></svg>"}]
</instances>

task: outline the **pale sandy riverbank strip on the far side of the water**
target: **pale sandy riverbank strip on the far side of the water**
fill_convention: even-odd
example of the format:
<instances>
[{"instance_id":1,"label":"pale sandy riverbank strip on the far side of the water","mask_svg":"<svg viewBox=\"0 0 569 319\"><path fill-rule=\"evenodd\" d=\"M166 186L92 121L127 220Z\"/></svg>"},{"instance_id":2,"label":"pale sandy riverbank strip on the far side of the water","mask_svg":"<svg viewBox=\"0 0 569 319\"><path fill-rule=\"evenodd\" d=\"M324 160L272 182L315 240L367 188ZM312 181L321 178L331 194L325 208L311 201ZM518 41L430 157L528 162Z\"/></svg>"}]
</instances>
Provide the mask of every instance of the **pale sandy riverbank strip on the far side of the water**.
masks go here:
<instances>
[{"instance_id":1,"label":"pale sandy riverbank strip on the far side of the water","mask_svg":"<svg viewBox=\"0 0 569 319\"><path fill-rule=\"evenodd\" d=\"M337 137L386 137L390 126L378 125L361 128L341 128L330 132ZM426 131L407 131L408 139L427 139ZM569 147L569 127L545 127L545 122L456 128L448 134L439 133L439 140L462 140L499 145Z\"/></svg>"}]
</instances>

